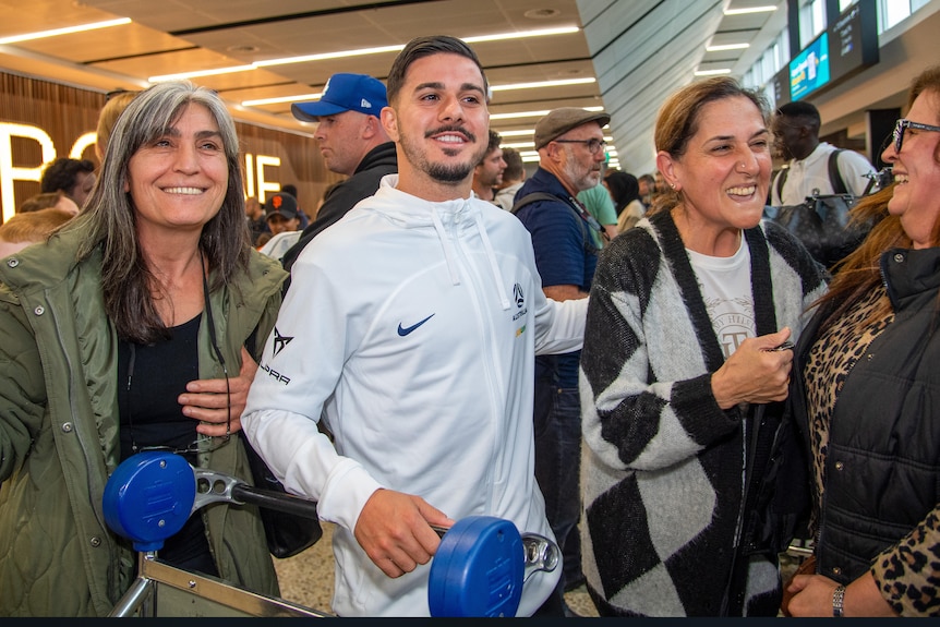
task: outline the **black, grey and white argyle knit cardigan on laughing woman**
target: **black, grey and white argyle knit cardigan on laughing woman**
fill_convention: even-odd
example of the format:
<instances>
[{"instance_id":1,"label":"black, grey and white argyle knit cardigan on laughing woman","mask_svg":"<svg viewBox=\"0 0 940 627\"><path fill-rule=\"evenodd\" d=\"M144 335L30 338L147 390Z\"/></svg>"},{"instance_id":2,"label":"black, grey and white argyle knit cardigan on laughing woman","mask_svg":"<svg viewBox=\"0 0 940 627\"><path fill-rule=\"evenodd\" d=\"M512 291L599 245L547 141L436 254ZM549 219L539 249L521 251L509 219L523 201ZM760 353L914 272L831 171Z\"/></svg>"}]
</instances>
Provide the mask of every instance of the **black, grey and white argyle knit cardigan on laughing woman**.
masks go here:
<instances>
[{"instance_id":1,"label":"black, grey and white argyle knit cardigan on laughing woman","mask_svg":"<svg viewBox=\"0 0 940 627\"><path fill-rule=\"evenodd\" d=\"M591 287L580 371L583 570L602 615L716 616L742 503L743 413L712 395L724 358L672 216L638 227L604 250ZM757 334L788 326L796 341L825 290L823 269L774 224L745 237ZM773 615L775 556L748 562L738 613Z\"/></svg>"}]
</instances>

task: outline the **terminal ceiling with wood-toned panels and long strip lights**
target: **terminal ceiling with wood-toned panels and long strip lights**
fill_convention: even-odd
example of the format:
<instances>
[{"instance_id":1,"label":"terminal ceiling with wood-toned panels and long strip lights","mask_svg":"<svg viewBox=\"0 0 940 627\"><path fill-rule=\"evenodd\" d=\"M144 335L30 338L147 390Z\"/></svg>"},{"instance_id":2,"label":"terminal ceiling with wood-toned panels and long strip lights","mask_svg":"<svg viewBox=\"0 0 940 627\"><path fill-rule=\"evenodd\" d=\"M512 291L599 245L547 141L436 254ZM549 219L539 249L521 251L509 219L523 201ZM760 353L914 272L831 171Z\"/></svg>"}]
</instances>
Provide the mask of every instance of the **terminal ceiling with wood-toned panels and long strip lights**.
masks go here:
<instances>
[{"instance_id":1,"label":"terminal ceiling with wood-toned panels and long strip lights","mask_svg":"<svg viewBox=\"0 0 940 627\"><path fill-rule=\"evenodd\" d=\"M743 74L786 22L776 11L726 14L772 0L0 0L0 70L101 93L193 73L245 122L309 134L291 98L313 99L335 72L384 80L398 49L425 34L471 41L493 85L492 125L527 149L540 112L603 107L623 169L653 168L659 105L697 70ZM903 106L909 80L940 58L940 0L903 33L888 32L880 62L812 101L823 133L864 135L867 108ZM92 23L113 25L15 40ZM518 37L520 33L527 36ZM515 34L514 38L501 36ZM707 51L747 43L746 49Z\"/></svg>"}]
</instances>

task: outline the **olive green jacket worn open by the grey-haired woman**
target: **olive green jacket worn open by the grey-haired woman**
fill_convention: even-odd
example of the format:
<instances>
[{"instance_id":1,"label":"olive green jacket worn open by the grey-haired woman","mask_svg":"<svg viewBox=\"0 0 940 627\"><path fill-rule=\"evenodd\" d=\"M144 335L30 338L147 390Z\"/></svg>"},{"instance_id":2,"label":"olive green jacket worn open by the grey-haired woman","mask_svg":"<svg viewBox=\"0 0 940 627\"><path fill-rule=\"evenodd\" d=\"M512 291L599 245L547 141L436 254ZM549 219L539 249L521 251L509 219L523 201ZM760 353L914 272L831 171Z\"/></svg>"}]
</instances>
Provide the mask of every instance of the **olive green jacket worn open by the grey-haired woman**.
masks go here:
<instances>
[{"instance_id":1,"label":"olive green jacket worn open by the grey-haired woman","mask_svg":"<svg viewBox=\"0 0 940 627\"><path fill-rule=\"evenodd\" d=\"M84 237L84 229L60 233L0 262L3 616L107 615L133 579L136 554L101 513L120 457L118 342L104 310L100 249L75 262ZM267 337L286 276L253 253L248 273L213 293L226 363L241 363L255 328L260 343ZM205 321L198 341L201 378L221 377ZM249 481L240 436L201 455L200 465ZM215 504L201 515L222 579L279 594L257 509Z\"/></svg>"}]
</instances>

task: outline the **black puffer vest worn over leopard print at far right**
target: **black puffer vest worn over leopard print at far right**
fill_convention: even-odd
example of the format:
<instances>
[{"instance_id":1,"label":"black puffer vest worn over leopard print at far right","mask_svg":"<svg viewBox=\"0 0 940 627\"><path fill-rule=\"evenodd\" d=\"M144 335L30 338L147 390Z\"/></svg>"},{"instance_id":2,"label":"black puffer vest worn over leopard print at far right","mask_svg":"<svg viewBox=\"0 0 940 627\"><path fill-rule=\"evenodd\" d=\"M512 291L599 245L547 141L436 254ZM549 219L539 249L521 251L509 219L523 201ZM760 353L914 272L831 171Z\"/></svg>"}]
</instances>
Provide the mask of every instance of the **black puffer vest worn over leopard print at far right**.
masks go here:
<instances>
[{"instance_id":1,"label":"black puffer vest worn over leopard print at far right","mask_svg":"<svg viewBox=\"0 0 940 627\"><path fill-rule=\"evenodd\" d=\"M825 458L817 567L821 575L848 583L876 562L896 558L907 563L897 577L908 578L919 570L926 578L921 583L908 581L904 588L929 588L930 572L912 560L918 555L936 559L937 551L940 249L889 251L881 257L881 273L895 318L858 359L837 393ZM797 347L799 364L806 363L827 313L819 312L807 326ZM802 367L795 365L794 372ZM808 449L804 382L795 383L795 415ZM927 570L931 570L929 564ZM879 583L882 593L885 587L901 590L890 582ZM901 610L901 599L888 600Z\"/></svg>"}]
</instances>

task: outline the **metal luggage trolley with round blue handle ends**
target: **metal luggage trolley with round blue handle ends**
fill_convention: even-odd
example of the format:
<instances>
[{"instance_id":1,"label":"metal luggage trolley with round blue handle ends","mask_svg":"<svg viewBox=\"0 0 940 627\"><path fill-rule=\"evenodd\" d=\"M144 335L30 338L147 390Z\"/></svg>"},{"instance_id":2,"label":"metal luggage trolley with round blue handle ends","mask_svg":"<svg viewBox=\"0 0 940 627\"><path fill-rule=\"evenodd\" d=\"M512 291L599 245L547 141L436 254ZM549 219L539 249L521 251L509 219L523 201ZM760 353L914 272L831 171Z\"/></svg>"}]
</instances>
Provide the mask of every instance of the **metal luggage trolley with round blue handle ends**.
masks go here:
<instances>
[{"instance_id":1,"label":"metal luggage trolley with round blue handle ends","mask_svg":"<svg viewBox=\"0 0 940 627\"><path fill-rule=\"evenodd\" d=\"M105 521L138 552L137 578L110 616L330 616L160 562L157 552L164 541L182 529L192 513L218 502L316 518L314 502L195 469L169 451L134 455L105 486ZM554 570L561 560L552 540L520 534L501 518L470 516L435 531L442 540L429 574L432 616L515 616L523 582L539 570Z\"/></svg>"}]
</instances>

